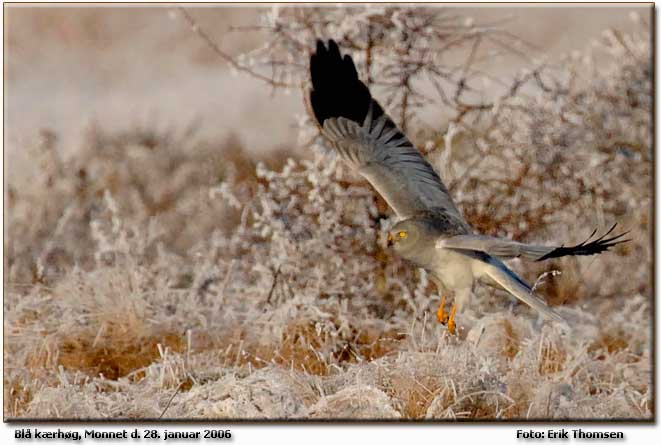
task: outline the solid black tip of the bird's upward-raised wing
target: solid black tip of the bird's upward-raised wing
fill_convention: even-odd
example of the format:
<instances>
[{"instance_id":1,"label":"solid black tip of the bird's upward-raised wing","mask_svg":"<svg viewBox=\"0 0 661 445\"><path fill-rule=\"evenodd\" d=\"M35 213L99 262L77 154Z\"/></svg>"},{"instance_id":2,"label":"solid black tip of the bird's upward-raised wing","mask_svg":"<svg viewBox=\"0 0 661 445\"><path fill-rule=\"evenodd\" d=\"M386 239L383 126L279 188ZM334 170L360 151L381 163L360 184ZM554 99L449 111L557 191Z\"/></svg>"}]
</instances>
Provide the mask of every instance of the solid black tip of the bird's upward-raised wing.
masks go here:
<instances>
[{"instance_id":1,"label":"solid black tip of the bird's upward-raised wing","mask_svg":"<svg viewBox=\"0 0 661 445\"><path fill-rule=\"evenodd\" d=\"M372 97L367 86L358 78L358 71L350 55L342 57L334 40L325 44L317 40L317 48L310 56L310 104L319 125L333 117L345 117L362 124ZM378 107L377 113L382 113ZM376 116L375 116L376 117Z\"/></svg>"}]
</instances>

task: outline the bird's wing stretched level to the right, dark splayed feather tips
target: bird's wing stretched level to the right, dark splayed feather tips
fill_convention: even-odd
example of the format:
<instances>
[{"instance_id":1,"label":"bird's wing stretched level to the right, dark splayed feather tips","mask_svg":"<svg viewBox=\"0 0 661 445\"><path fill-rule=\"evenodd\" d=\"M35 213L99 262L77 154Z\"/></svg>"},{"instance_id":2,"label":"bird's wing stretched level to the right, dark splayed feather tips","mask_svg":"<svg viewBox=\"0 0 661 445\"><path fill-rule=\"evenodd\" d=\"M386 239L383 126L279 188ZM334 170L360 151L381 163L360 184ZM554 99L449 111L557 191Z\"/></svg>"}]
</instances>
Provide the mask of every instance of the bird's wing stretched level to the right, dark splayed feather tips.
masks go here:
<instances>
[{"instance_id":1,"label":"bird's wing stretched level to the right, dark splayed feather tips","mask_svg":"<svg viewBox=\"0 0 661 445\"><path fill-rule=\"evenodd\" d=\"M588 239L582 243L569 247L565 247L564 245L558 247L524 244L483 235L457 235L450 238L440 239L436 243L436 247L479 251L501 259L521 257L526 260L544 261L550 258L559 258L569 255L595 255L597 253L605 252L610 247L617 244L629 241L628 239L622 239L622 237L629 232L608 237L616 226L617 224L613 224L608 232L590 241L597 232L595 230Z\"/></svg>"}]
</instances>

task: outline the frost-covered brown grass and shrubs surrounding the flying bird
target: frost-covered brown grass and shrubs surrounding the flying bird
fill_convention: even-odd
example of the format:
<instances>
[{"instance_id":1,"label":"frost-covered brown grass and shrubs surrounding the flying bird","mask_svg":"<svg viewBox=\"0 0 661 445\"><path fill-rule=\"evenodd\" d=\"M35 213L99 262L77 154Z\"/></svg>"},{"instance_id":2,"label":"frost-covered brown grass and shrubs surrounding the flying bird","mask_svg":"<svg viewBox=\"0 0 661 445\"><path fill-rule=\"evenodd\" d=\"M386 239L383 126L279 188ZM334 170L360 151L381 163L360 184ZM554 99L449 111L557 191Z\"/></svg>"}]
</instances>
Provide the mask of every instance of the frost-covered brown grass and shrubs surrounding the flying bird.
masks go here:
<instances>
[{"instance_id":1,"label":"frost-covered brown grass and shrubs surrounding the flying bird","mask_svg":"<svg viewBox=\"0 0 661 445\"><path fill-rule=\"evenodd\" d=\"M42 132L6 186L5 418L652 417L649 23L498 83L493 45L522 50L498 27L355 12L269 13L269 43L235 62L298 92L313 37L333 36L402 126L423 97L449 110L409 131L479 231L630 230L597 258L513 263L562 272L538 291L573 333L483 288L448 335L425 273L385 248L383 202L308 119L305 156L259 161L194 127L95 126L75 156Z\"/></svg>"}]
</instances>

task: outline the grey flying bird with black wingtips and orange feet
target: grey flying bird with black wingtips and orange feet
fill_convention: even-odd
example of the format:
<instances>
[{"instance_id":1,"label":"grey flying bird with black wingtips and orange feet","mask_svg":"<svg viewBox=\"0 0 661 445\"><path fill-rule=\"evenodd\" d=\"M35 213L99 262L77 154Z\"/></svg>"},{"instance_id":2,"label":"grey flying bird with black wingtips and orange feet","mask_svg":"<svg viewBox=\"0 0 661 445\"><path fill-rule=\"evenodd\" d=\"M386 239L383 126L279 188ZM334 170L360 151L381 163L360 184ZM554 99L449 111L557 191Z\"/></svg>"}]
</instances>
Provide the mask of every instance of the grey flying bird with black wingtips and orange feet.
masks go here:
<instances>
[{"instance_id":1,"label":"grey flying bird with black wingtips and orange feet","mask_svg":"<svg viewBox=\"0 0 661 445\"><path fill-rule=\"evenodd\" d=\"M524 244L479 235L452 201L438 173L374 100L358 78L350 55L333 40L317 41L310 57L310 105L325 140L362 175L395 211L399 221L388 233L388 246L425 269L442 293L439 322L455 332L455 316L470 303L476 281L496 285L539 311L565 323L502 260L543 261L567 255L594 255L628 241L627 233L604 235L565 247ZM445 311L445 296L454 302Z\"/></svg>"}]
</instances>

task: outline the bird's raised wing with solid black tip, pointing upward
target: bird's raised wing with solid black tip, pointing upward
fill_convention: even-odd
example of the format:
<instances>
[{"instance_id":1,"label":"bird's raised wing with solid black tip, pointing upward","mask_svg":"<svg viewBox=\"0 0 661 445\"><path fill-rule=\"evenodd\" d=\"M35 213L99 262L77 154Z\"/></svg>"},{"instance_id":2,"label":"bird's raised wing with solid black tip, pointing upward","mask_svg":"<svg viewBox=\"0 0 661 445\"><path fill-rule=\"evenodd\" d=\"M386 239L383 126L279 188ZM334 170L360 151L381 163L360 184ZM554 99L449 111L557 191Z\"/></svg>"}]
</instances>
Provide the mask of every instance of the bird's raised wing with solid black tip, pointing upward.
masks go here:
<instances>
[{"instance_id":1,"label":"bird's raised wing with solid black tip, pointing upward","mask_svg":"<svg viewBox=\"0 0 661 445\"><path fill-rule=\"evenodd\" d=\"M397 215L445 215L457 233L470 231L431 165L372 98L349 55L317 41L310 58L310 103L322 133Z\"/></svg>"}]
</instances>

